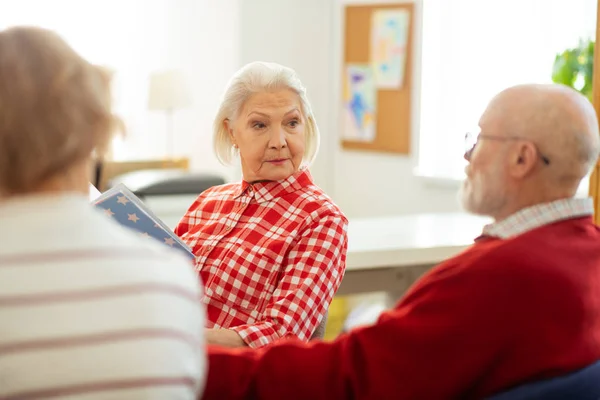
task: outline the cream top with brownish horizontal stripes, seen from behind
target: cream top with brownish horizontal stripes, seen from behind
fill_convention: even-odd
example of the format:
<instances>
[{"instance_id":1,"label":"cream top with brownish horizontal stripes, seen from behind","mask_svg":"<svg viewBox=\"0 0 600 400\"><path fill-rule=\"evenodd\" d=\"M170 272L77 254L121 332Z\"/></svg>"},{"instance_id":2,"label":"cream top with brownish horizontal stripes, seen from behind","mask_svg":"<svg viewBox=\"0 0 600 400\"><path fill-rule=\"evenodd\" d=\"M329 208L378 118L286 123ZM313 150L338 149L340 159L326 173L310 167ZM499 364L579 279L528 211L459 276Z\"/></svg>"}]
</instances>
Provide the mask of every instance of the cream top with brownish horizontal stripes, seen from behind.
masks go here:
<instances>
[{"instance_id":1,"label":"cream top with brownish horizontal stripes, seen from behind","mask_svg":"<svg viewBox=\"0 0 600 400\"><path fill-rule=\"evenodd\" d=\"M200 295L188 260L83 195L1 202L0 398L195 398Z\"/></svg>"}]
</instances>

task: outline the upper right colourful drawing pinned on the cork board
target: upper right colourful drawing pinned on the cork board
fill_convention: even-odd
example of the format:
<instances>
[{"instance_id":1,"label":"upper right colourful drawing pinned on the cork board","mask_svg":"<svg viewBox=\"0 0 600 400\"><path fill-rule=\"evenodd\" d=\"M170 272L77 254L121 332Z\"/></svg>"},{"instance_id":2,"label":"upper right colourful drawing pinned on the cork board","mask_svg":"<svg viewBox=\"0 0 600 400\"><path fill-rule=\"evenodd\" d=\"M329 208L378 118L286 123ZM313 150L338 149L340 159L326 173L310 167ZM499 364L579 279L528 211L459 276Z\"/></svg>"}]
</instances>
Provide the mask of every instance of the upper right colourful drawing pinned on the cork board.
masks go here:
<instances>
[{"instance_id":1,"label":"upper right colourful drawing pinned on the cork board","mask_svg":"<svg viewBox=\"0 0 600 400\"><path fill-rule=\"evenodd\" d=\"M410 13L382 9L371 21L371 63L377 88L399 89L404 82Z\"/></svg>"}]
</instances>

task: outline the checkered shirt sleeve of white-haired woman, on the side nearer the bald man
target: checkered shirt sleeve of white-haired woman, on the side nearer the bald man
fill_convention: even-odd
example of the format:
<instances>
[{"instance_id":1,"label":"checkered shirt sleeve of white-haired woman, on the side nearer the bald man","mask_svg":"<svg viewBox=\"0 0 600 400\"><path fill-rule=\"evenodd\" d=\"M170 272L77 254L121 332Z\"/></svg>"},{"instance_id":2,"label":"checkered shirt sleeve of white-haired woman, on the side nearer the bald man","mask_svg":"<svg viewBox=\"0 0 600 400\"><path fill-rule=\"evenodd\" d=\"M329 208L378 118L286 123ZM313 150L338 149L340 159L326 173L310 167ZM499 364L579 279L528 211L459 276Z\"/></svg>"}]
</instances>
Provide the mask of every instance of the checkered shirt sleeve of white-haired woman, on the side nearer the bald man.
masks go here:
<instances>
[{"instance_id":1,"label":"checkered shirt sleeve of white-haired woman, on the side nearer the bald man","mask_svg":"<svg viewBox=\"0 0 600 400\"><path fill-rule=\"evenodd\" d=\"M231 330L250 347L286 336L310 339L344 276L347 229L341 214L315 219L288 251L283 276L259 321Z\"/></svg>"}]
</instances>

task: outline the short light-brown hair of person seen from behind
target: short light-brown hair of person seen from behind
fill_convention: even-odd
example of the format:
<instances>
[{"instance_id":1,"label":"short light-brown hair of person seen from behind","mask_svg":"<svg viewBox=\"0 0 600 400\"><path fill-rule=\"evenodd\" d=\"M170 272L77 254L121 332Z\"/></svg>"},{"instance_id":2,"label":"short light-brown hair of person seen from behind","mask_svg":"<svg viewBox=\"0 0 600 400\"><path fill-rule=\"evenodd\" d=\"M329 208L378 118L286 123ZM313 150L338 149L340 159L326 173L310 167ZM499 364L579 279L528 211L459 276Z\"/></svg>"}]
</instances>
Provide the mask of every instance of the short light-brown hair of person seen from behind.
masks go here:
<instances>
[{"instance_id":1,"label":"short light-brown hair of person seen from behind","mask_svg":"<svg viewBox=\"0 0 600 400\"><path fill-rule=\"evenodd\" d=\"M101 158L120 124L110 72L37 27L0 31L0 55L0 196Z\"/></svg>"}]
</instances>

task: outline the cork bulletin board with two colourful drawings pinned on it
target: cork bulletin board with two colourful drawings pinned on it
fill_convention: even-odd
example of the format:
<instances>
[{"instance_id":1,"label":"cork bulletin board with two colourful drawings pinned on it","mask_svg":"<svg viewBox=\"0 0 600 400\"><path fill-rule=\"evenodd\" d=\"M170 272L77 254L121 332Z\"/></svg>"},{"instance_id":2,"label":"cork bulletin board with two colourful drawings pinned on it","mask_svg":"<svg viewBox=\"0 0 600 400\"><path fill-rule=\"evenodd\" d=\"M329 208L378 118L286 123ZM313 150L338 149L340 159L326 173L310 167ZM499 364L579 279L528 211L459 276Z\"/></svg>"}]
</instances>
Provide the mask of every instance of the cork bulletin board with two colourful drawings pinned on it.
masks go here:
<instances>
[{"instance_id":1,"label":"cork bulletin board with two colourful drawings pinned on it","mask_svg":"<svg viewBox=\"0 0 600 400\"><path fill-rule=\"evenodd\" d=\"M413 57L412 3L344 10L344 149L409 154Z\"/></svg>"}]
</instances>

